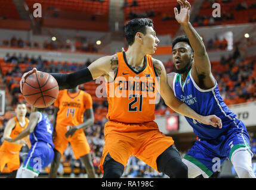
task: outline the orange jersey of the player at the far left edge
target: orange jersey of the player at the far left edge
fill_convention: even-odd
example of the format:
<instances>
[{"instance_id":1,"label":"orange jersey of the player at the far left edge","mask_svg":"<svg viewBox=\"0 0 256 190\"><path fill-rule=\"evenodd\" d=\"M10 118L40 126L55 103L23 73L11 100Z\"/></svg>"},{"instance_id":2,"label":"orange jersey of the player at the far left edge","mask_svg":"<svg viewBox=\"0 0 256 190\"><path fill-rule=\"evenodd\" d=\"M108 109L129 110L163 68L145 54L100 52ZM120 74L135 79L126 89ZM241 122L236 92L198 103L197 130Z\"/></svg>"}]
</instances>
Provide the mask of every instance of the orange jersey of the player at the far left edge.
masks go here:
<instances>
[{"instance_id":1,"label":"orange jersey of the player at the far left edge","mask_svg":"<svg viewBox=\"0 0 256 190\"><path fill-rule=\"evenodd\" d=\"M13 130L11 131L11 135L10 135L11 138L16 138L18 136L18 134L20 134L24 129L27 128L27 125L29 125L29 119L27 119L27 118L25 118L26 124L24 126L20 125L17 117L14 117L14 119L16 121L16 125L14 126ZM8 151L11 151L14 153L18 153L21 150L22 145L4 141L1 148L4 148L5 150L8 150Z\"/></svg>"}]
</instances>

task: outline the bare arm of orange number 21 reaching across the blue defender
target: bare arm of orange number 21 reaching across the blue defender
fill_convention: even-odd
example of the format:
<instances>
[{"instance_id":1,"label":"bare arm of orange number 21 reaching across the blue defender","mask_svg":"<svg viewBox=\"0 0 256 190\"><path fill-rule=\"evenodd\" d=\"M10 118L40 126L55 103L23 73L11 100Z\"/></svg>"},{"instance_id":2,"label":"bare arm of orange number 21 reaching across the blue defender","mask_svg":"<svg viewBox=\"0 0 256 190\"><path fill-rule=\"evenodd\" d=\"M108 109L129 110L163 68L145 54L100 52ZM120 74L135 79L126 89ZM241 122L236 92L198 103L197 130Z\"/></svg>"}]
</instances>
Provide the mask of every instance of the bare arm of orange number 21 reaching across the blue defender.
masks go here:
<instances>
[{"instance_id":1,"label":"bare arm of orange number 21 reaching across the blue defender","mask_svg":"<svg viewBox=\"0 0 256 190\"><path fill-rule=\"evenodd\" d=\"M180 113L189 118L196 119L196 120L202 122L203 124L212 125L214 127L218 126L219 128L222 127L221 119L218 118L217 116L215 116L215 115L209 115L209 116L199 115L193 109L191 109L189 106L187 106L186 103L183 103L179 99L177 99L177 97L175 97L175 95L174 95L174 91L168 84L164 64L157 59L152 58L152 61L153 61L153 65L155 67L155 71L157 72L158 77L159 77L160 83L159 83L158 90L167 106L171 107L171 109L173 109L175 112Z\"/></svg>"}]
</instances>

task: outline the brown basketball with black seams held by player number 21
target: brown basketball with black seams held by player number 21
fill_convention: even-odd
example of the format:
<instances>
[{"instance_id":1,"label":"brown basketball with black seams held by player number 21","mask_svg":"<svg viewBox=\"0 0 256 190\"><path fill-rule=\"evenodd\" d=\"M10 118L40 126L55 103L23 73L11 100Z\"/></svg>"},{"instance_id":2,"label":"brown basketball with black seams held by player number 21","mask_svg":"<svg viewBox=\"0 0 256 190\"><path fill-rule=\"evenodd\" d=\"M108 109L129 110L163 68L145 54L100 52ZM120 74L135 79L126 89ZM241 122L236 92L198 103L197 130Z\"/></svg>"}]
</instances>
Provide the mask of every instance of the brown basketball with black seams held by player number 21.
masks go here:
<instances>
[{"instance_id":1,"label":"brown basketball with black seams held by player number 21","mask_svg":"<svg viewBox=\"0 0 256 190\"><path fill-rule=\"evenodd\" d=\"M23 96L34 107L48 107L58 96L58 83L47 72L37 71L26 78Z\"/></svg>"}]
</instances>

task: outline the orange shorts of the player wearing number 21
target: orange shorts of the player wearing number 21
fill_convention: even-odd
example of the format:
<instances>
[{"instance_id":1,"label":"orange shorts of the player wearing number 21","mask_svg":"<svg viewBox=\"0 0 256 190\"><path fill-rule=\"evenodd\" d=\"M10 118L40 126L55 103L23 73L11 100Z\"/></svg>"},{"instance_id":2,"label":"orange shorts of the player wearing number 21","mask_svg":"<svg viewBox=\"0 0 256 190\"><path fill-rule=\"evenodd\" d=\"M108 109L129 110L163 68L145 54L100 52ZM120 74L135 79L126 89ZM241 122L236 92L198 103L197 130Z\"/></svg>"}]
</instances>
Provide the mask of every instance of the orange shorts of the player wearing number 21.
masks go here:
<instances>
[{"instance_id":1,"label":"orange shorts of the player wearing number 21","mask_svg":"<svg viewBox=\"0 0 256 190\"><path fill-rule=\"evenodd\" d=\"M171 137L159 131L154 121L141 124L125 124L109 121L104 128L105 144L100 161L103 171L105 157L109 153L116 162L127 165L130 156L135 156L144 163L158 170L156 159L166 148L174 144Z\"/></svg>"}]
</instances>

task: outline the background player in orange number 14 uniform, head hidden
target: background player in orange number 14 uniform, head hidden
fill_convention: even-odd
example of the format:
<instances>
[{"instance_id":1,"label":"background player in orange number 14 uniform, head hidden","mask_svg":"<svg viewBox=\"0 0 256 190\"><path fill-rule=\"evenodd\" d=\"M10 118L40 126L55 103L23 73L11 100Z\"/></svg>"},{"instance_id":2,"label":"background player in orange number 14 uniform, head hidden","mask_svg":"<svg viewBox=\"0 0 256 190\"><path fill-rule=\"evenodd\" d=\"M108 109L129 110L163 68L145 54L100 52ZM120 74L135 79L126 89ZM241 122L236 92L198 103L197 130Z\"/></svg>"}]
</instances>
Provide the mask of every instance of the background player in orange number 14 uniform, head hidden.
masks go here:
<instances>
[{"instance_id":1,"label":"background player in orange number 14 uniform, head hidden","mask_svg":"<svg viewBox=\"0 0 256 190\"><path fill-rule=\"evenodd\" d=\"M57 166L68 143L72 146L75 159L81 157L88 177L94 178L95 173L92 166L91 149L82 129L92 125L94 122L91 95L79 90L78 86L70 90L61 90L54 102L54 106L55 155L51 165L50 178L57 177ZM84 113L87 118L85 121Z\"/></svg>"}]
</instances>

